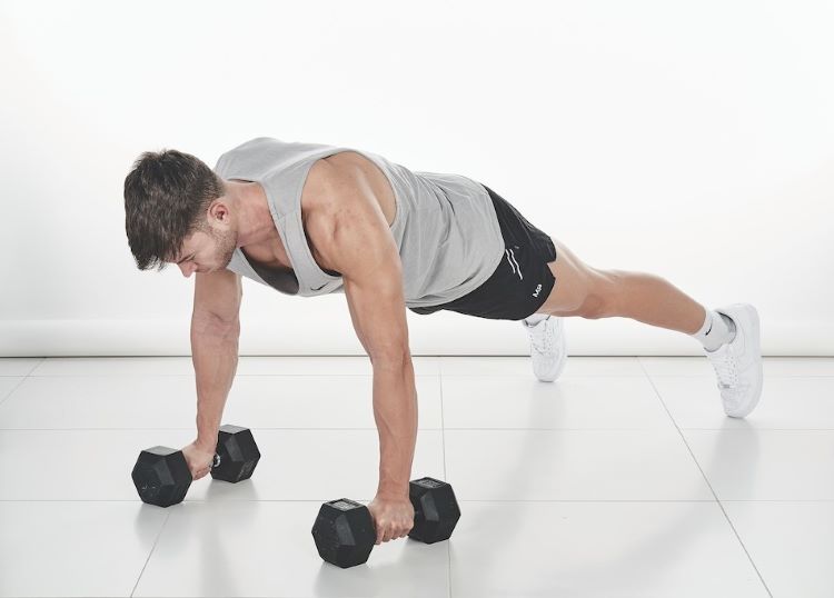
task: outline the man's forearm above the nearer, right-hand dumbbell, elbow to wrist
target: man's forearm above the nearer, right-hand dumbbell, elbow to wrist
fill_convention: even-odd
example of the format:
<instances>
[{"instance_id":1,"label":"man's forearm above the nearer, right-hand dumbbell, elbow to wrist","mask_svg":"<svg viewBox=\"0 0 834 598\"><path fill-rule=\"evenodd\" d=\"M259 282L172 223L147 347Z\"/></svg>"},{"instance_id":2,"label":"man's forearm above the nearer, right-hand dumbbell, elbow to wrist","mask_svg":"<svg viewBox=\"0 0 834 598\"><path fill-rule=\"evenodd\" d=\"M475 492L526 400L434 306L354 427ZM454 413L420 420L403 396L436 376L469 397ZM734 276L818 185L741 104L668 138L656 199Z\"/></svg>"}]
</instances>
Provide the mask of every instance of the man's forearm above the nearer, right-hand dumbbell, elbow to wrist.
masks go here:
<instances>
[{"instance_id":1,"label":"man's forearm above the nearer, right-hand dumbbell, elbow to wrist","mask_svg":"<svg viewBox=\"0 0 834 598\"><path fill-rule=\"evenodd\" d=\"M377 495L408 498L417 442L417 389L410 356L374 361L374 419L379 432Z\"/></svg>"}]
</instances>

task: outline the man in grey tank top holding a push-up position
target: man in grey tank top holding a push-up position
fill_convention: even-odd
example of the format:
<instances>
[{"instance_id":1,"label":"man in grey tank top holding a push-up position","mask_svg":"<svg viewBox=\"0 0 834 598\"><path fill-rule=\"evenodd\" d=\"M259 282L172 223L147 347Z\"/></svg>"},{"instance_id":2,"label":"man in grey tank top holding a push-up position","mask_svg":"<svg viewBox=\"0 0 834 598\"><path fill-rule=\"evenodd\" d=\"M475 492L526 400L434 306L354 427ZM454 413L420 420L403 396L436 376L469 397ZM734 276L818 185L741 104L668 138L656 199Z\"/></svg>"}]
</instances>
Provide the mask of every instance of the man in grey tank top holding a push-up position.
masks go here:
<instances>
[{"instance_id":1,"label":"man in grey tank top holding a push-up position","mask_svg":"<svg viewBox=\"0 0 834 598\"><path fill-rule=\"evenodd\" d=\"M140 269L196 272L197 439L183 449L195 479L209 471L237 368L241 276L286 295L345 293L374 370L380 459L368 508L377 544L406 536L414 518L417 393L406 308L520 320L543 381L565 366L563 317L633 318L702 342L728 416L748 415L762 391L753 306L708 310L657 276L592 268L463 176L257 138L224 153L214 171L175 150L143 153L125 180L125 208Z\"/></svg>"}]
</instances>

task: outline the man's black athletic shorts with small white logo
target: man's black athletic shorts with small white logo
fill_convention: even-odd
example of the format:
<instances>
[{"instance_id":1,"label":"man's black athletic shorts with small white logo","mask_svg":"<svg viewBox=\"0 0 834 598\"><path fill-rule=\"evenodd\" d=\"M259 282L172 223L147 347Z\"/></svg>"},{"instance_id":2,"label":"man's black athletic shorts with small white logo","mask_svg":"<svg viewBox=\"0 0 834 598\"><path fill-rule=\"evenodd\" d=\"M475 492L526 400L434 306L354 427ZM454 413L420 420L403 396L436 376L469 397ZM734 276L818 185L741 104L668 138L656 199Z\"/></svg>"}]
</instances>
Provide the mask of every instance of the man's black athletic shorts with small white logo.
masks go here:
<instances>
[{"instance_id":1,"label":"man's black athletic shorts with small white logo","mask_svg":"<svg viewBox=\"0 0 834 598\"><path fill-rule=\"evenodd\" d=\"M478 288L447 303L408 308L415 313L441 309L493 320L520 320L535 313L550 295L556 280L547 267L556 259L556 247L545 232L522 216L486 185L504 237L504 257Z\"/></svg>"}]
</instances>

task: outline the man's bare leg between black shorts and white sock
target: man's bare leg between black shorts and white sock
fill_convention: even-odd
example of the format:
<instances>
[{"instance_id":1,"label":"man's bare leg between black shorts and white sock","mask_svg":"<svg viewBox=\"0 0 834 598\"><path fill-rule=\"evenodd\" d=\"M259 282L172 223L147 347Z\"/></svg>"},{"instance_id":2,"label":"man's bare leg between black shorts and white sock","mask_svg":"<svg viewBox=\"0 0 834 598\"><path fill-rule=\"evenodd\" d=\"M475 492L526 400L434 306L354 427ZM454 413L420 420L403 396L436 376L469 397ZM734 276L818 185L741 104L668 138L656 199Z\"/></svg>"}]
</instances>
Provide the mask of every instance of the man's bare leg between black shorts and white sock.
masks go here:
<instances>
[{"instance_id":1,"label":"man's bare leg between black shorts and white sock","mask_svg":"<svg viewBox=\"0 0 834 598\"><path fill-rule=\"evenodd\" d=\"M537 313L583 318L632 318L687 335L698 331L706 309L663 278L644 272L598 270L553 239L548 263L556 285Z\"/></svg>"}]
</instances>

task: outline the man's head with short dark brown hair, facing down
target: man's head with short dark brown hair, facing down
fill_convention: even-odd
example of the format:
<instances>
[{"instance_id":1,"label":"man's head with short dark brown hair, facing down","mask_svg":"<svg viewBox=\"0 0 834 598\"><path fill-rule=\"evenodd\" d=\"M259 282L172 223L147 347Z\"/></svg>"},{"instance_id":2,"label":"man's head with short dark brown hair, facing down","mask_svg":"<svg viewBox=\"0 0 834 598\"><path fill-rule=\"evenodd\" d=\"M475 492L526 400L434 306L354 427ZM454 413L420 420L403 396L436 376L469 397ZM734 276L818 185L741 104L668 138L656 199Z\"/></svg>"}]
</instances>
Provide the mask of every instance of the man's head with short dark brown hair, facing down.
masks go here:
<instances>
[{"instance_id":1,"label":"man's head with short dark brown hair, facing down","mask_svg":"<svg viewBox=\"0 0 834 598\"><path fill-rule=\"evenodd\" d=\"M139 269L226 268L238 235L225 193L222 179L189 153L142 153L125 178L125 228Z\"/></svg>"}]
</instances>

